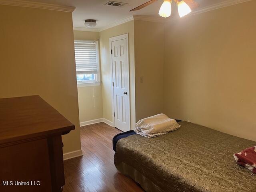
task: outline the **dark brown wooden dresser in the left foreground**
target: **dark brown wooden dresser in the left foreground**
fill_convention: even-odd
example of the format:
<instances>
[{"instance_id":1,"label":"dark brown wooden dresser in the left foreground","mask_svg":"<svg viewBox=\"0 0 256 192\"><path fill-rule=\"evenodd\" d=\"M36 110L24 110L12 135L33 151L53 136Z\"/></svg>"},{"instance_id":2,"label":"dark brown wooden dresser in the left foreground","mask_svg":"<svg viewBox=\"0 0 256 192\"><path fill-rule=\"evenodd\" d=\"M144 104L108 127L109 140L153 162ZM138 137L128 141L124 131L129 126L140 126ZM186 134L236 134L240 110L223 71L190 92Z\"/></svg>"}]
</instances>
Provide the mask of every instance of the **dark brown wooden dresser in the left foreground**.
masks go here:
<instances>
[{"instance_id":1,"label":"dark brown wooden dresser in the left foreground","mask_svg":"<svg viewBox=\"0 0 256 192\"><path fill-rule=\"evenodd\" d=\"M75 126L40 96L0 99L0 192L60 192L62 138Z\"/></svg>"}]
</instances>

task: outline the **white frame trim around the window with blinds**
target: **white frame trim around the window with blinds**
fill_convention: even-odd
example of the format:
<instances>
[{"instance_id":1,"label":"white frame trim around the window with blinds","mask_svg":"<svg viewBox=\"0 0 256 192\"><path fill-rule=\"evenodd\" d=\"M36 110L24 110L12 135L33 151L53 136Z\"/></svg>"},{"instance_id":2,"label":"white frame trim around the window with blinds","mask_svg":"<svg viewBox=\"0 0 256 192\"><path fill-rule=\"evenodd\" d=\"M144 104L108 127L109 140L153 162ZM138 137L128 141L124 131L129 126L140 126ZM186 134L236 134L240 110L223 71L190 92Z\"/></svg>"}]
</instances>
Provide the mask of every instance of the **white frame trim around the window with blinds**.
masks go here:
<instances>
[{"instance_id":1,"label":"white frame trim around the window with blinds","mask_svg":"<svg viewBox=\"0 0 256 192\"><path fill-rule=\"evenodd\" d=\"M76 84L78 87L87 87L87 86L100 86L100 57L99 57L99 41L98 40L74 40L74 42L87 42L87 43L95 43L96 44L96 59L97 59L97 74L96 80L82 80L78 81L76 79ZM76 58L76 54L75 54Z\"/></svg>"}]
</instances>

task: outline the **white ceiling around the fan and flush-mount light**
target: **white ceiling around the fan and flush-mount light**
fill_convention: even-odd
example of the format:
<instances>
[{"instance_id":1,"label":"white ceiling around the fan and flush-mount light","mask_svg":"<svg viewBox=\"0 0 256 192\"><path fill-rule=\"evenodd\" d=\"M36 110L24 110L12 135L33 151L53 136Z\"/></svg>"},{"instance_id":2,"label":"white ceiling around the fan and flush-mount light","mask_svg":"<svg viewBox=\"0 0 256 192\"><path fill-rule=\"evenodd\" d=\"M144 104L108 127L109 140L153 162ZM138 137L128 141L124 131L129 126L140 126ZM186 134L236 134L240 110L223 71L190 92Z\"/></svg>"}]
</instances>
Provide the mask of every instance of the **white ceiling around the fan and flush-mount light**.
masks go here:
<instances>
[{"instance_id":1,"label":"white ceiling around the fan and flush-mount light","mask_svg":"<svg viewBox=\"0 0 256 192\"><path fill-rule=\"evenodd\" d=\"M59 4L66 6L74 6L76 9L73 12L73 25L74 27L84 26L85 19L95 19L97 26L95 28L103 28L122 19L128 18L132 15L143 15L154 18L161 18L158 16L159 8L162 4L162 0L147 6L138 11L129 12L129 10L147 2L148 0L114 0L117 2L127 3L128 5L122 7L106 6L105 4L110 0L29 0L50 4ZM200 8L206 8L220 2L227 0L196 0L200 4ZM176 6L172 3L172 16L176 13Z\"/></svg>"}]
</instances>

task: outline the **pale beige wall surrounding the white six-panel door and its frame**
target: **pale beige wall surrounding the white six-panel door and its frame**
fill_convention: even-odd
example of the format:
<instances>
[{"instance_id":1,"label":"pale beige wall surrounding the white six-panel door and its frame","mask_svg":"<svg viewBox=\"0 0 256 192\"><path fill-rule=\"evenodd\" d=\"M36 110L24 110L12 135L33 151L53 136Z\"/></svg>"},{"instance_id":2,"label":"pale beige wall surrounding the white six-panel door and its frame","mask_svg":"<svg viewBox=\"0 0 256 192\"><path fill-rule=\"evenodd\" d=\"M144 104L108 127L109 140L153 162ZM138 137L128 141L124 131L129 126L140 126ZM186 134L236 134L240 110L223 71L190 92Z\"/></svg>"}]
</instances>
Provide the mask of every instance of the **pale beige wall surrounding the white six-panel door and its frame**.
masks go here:
<instances>
[{"instance_id":1,"label":"pale beige wall surrounding the white six-panel door and its frame","mask_svg":"<svg viewBox=\"0 0 256 192\"><path fill-rule=\"evenodd\" d=\"M100 32L100 53L102 72L102 102L103 117L112 122L112 82L109 38L128 33L129 36L129 62L130 62L130 112L131 127L135 126L135 72L134 72L134 21L106 29Z\"/></svg>"}]
</instances>

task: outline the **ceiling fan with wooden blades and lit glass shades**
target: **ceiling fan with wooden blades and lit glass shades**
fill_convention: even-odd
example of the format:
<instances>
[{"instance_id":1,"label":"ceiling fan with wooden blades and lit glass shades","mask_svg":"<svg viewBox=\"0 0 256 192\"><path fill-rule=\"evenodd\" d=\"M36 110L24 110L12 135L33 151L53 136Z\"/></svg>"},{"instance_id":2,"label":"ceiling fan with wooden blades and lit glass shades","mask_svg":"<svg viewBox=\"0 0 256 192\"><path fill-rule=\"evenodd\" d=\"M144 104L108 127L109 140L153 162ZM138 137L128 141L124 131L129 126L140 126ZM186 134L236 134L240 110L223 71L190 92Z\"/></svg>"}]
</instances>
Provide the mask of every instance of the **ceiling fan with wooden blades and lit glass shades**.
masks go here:
<instances>
[{"instance_id":1,"label":"ceiling fan with wooden blades and lit glass shades","mask_svg":"<svg viewBox=\"0 0 256 192\"><path fill-rule=\"evenodd\" d=\"M140 10L154 2L156 2L158 0L150 0L130 11L137 11ZM192 9L195 9L197 7L199 7L199 4L197 2L195 2L194 0L173 0L176 5L178 6L178 12L180 17L184 17L185 15L189 14ZM164 0L162 6L160 7L159 10L159 15L166 18L166 17L170 17L172 12L172 0Z\"/></svg>"}]
</instances>

